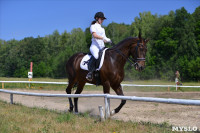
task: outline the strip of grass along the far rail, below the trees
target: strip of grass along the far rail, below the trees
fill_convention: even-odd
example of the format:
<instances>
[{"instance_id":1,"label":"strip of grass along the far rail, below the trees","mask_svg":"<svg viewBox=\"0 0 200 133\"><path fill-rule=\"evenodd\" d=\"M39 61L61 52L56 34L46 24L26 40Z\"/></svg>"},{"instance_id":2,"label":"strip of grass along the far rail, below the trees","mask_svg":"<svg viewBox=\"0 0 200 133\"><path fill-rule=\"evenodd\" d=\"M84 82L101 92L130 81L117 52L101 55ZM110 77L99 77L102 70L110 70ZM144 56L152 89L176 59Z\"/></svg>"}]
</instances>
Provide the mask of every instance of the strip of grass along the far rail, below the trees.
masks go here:
<instances>
[{"instance_id":1,"label":"strip of grass along the far rail, below the trees","mask_svg":"<svg viewBox=\"0 0 200 133\"><path fill-rule=\"evenodd\" d=\"M28 78L5 78L0 77L0 80L5 81L28 81ZM51 78L34 78L33 81L48 81L48 82L67 82L68 79L51 79ZM174 85L174 81L163 81L163 80L136 80L136 81L123 81L122 84L141 84L141 85ZM184 82L185 86L200 86L200 82ZM1 88L1 85L0 85ZM29 84L24 83L4 83L4 88L7 89L43 89L43 90L65 90L66 85L54 85L54 84ZM166 92L167 87L124 87L125 91L136 91L136 92ZM170 87L170 91L176 91L175 87ZM103 91L102 86L85 86L84 90L87 91ZM179 91L200 91L200 88L181 88Z\"/></svg>"}]
</instances>

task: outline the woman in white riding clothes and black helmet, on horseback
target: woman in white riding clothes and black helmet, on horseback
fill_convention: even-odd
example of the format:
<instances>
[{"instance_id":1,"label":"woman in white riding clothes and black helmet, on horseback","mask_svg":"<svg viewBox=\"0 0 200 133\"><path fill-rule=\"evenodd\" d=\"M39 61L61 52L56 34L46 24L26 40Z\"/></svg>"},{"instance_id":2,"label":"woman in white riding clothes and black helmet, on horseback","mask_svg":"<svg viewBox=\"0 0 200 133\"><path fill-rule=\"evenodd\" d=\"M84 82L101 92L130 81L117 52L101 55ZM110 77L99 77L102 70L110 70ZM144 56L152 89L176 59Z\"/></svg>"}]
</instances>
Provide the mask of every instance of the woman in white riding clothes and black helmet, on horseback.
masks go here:
<instances>
[{"instance_id":1,"label":"woman in white riding clothes and black helmet, on horseback","mask_svg":"<svg viewBox=\"0 0 200 133\"><path fill-rule=\"evenodd\" d=\"M105 29L101 27L101 24L103 23L105 16L103 12L97 12L94 16L94 21L92 22L90 26L90 32L92 34L92 44L90 46L90 52L94 56L94 64L99 58L99 51L102 50L105 45L105 43L112 43L110 38L106 37ZM92 73L95 71L96 67L95 65L92 66L91 69L89 69L89 73L86 76L86 79L91 81L92 80Z\"/></svg>"}]
</instances>

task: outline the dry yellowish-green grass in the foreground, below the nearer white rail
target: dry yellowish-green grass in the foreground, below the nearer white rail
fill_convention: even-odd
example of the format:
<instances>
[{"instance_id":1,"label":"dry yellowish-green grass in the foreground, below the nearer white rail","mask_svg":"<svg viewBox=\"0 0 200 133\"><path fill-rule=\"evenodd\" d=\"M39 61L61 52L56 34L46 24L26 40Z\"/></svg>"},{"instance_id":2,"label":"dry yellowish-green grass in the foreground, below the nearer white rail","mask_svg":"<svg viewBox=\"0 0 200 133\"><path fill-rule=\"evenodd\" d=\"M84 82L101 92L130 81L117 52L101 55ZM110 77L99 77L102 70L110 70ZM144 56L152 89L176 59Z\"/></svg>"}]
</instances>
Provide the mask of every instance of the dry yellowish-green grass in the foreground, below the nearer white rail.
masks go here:
<instances>
[{"instance_id":1,"label":"dry yellowish-green grass in the foreground, below the nearer white rail","mask_svg":"<svg viewBox=\"0 0 200 133\"><path fill-rule=\"evenodd\" d=\"M168 123L123 122L89 117L87 113L74 115L47 109L28 108L0 101L1 133L170 133Z\"/></svg>"}]
</instances>

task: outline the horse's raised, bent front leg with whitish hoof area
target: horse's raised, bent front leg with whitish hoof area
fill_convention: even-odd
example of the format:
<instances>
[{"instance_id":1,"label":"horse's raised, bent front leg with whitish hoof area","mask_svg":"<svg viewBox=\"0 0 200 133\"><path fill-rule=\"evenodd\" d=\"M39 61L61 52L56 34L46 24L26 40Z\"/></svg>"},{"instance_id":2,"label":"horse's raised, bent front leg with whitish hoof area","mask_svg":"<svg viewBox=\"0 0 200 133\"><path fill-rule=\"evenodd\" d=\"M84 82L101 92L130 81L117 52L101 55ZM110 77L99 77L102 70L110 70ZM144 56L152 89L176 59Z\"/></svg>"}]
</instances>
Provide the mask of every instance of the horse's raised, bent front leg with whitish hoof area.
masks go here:
<instances>
[{"instance_id":1,"label":"horse's raised, bent front leg with whitish hoof area","mask_svg":"<svg viewBox=\"0 0 200 133\"><path fill-rule=\"evenodd\" d=\"M122 91L122 86L120 84L118 86L113 86L112 88L117 95L124 96L123 91ZM116 109L111 111L111 116L118 113L125 104L126 104L126 100L121 100L120 105Z\"/></svg>"}]
</instances>

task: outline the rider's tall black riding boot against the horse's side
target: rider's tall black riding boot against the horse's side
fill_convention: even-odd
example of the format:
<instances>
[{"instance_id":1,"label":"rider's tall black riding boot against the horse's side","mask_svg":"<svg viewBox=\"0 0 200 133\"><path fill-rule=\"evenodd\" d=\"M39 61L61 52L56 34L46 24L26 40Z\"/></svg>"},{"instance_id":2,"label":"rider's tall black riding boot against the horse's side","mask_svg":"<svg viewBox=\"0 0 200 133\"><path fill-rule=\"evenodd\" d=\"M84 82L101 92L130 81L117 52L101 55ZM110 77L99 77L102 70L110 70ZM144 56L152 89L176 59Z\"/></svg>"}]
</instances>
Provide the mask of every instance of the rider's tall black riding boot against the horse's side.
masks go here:
<instances>
[{"instance_id":1,"label":"rider's tall black riding boot against the horse's side","mask_svg":"<svg viewBox=\"0 0 200 133\"><path fill-rule=\"evenodd\" d=\"M96 70L96 62L97 60L93 57L88 64L89 73L87 74L86 79L89 81L92 81L93 79L93 72Z\"/></svg>"}]
</instances>

